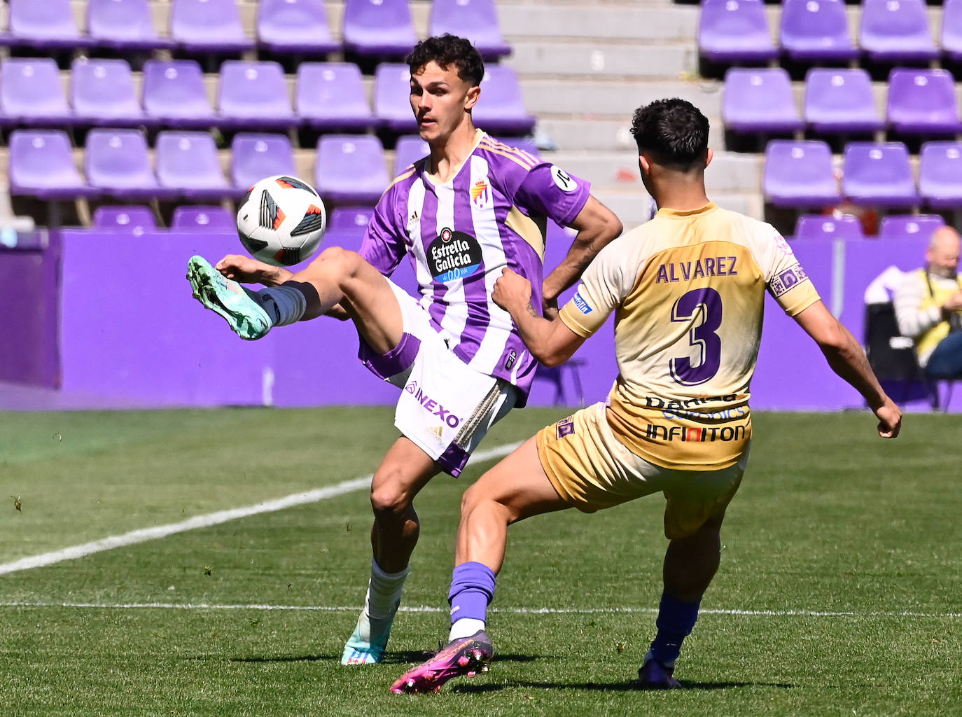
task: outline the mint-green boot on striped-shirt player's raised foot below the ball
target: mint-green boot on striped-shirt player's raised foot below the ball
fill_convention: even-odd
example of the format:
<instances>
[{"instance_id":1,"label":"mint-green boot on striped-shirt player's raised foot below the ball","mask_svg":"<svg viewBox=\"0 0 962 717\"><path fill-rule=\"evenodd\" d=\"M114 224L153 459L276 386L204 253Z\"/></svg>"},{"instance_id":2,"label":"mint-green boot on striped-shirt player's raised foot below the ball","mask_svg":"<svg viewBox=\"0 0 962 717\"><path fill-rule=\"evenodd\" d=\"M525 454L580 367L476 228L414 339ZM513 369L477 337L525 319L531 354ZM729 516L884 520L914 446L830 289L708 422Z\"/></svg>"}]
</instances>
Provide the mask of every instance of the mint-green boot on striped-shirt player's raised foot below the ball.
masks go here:
<instances>
[{"instance_id":1,"label":"mint-green boot on striped-shirt player's raised foot below the ball","mask_svg":"<svg viewBox=\"0 0 962 717\"><path fill-rule=\"evenodd\" d=\"M266 336L272 321L253 292L223 276L201 256L190 257L187 278L193 297L222 316L241 339L253 341Z\"/></svg>"}]
</instances>

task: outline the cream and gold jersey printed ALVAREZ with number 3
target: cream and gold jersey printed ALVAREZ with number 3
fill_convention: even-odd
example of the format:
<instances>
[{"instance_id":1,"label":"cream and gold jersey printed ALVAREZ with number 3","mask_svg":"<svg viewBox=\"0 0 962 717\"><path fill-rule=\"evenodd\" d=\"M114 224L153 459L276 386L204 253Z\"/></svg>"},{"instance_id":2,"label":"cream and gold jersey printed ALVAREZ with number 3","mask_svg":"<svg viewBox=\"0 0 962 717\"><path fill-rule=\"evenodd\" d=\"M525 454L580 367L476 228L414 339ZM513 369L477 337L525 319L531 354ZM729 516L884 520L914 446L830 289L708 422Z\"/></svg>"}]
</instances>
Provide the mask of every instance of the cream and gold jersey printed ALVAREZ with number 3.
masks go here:
<instances>
[{"instance_id":1,"label":"cream and gold jersey printed ALVAREZ with number 3","mask_svg":"<svg viewBox=\"0 0 962 717\"><path fill-rule=\"evenodd\" d=\"M659 210L598 253L560 317L587 338L615 312L607 415L627 448L671 469L738 461L766 290L789 316L819 300L771 224L714 203Z\"/></svg>"}]
</instances>

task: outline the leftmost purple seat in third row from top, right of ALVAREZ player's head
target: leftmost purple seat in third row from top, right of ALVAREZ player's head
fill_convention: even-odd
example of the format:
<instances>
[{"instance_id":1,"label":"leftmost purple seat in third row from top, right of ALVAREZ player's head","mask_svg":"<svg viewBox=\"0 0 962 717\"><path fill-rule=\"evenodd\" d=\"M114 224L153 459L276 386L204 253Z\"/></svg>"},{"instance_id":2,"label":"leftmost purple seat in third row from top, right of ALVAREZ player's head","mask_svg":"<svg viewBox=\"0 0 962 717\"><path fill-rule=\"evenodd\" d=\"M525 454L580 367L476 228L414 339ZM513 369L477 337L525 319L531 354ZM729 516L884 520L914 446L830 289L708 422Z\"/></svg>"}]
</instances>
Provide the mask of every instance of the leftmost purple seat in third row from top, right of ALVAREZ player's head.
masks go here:
<instances>
[{"instance_id":1,"label":"leftmost purple seat in third row from top, right of ALVAREZ player's head","mask_svg":"<svg viewBox=\"0 0 962 717\"><path fill-rule=\"evenodd\" d=\"M825 207L840 198L832 153L823 141L770 141L763 185L776 207Z\"/></svg>"}]
</instances>

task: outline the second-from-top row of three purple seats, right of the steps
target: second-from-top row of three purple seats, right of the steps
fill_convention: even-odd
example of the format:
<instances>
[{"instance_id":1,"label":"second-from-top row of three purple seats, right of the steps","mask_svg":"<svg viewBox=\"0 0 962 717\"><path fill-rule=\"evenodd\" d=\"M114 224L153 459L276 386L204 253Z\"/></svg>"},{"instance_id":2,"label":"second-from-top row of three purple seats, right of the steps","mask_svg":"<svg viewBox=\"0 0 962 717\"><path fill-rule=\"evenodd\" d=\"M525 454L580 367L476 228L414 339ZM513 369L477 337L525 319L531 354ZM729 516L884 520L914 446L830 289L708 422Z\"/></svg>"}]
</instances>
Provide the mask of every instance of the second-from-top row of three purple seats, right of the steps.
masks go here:
<instances>
[{"instance_id":1,"label":"second-from-top row of three purple seats, right of the steps","mask_svg":"<svg viewBox=\"0 0 962 717\"><path fill-rule=\"evenodd\" d=\"M805 77L803 117L792 82L780 67L731 67L725 72L722 120L739 133L851 135L890 127L905 135L962 132L955 80L944 69L895 68L889 74L885 121L878 114L869 73L859 68L813 67Z\"/></svg>"}]
</instances>

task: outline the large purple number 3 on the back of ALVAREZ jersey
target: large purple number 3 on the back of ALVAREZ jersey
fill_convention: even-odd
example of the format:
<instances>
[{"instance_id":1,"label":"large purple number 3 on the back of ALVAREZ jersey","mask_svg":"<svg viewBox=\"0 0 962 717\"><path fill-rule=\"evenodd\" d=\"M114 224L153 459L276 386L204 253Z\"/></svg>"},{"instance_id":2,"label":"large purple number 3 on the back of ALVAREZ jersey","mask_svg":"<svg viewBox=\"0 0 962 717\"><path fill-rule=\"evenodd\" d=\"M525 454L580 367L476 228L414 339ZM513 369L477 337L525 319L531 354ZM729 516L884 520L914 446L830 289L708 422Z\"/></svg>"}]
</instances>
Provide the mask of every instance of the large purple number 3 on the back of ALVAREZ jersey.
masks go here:
<instances>
[{"instance_id":1,"label":"large purple number 3 on the back of ALVAREZ jersey","mask_svg":"<svg viewBox=\"0 0 962 717\"><path fill-rule=\"evenodd\" d=\"M671 378L685 386L696 386L710 380L722 366L722 339L716 333L722 325L722 296L704 287L683 294L671 307L672 321L689 322L701 313L702 320L688 332L690 346L697 346L701 354L697 365L688 356L669 362Z\"/></svg>"}]
</instances>

